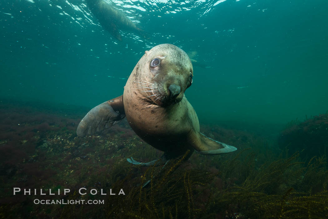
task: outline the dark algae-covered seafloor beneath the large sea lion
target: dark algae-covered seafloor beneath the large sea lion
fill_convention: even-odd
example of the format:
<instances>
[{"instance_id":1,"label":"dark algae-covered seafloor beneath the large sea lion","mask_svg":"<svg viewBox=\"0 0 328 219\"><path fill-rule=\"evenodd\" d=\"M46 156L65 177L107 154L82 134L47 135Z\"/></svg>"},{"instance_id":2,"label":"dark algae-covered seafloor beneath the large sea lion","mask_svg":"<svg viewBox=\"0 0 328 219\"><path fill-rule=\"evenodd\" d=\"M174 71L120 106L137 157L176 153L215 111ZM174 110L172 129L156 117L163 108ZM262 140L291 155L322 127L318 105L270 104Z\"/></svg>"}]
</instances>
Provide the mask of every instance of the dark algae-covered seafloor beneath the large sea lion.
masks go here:
<instances>
[{"instance_id":1,"label":"dark algae-covered seafloor beneath the large sea lion","mask_svg":"<svg viewBox=\"0 0 328 219\"><path fill-rule=\"evenodd\" d=\"M277 142L265 136L212 125L202 126L204 134L229 140L238 153L194 153L185 162L187 151L164 168L139 167L126 158L148 162L162 152L124 122L101 135L78 138L81 114L0 104L0 218L328 217L323 153L303 159L299 152L277 150ZM14 187L44 189L46 195L13 195ZM49 195L49 189L71 191ZM90 194L91 189L98 193ZM116 195L109 195L110 189ZM120 189L125 195L118 195ZM104 204L41 205L34 199Z\"/></svg>"}]
</instances>

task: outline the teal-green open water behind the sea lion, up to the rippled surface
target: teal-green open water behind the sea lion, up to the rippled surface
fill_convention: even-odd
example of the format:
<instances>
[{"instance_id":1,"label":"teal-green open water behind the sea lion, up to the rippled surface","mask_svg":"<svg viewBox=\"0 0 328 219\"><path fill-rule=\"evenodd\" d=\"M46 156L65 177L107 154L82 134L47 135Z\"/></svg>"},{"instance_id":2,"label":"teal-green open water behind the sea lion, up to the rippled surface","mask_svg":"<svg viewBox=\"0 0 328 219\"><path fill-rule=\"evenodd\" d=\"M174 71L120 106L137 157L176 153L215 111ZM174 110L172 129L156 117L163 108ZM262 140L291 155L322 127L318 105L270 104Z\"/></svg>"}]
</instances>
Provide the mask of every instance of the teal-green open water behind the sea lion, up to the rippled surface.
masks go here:
<instances>
[{"instance_id":1,"label":"teal-green open water behind the sea lion, up to the rippled surface","mask_svg":"<svg viewBox=\"0 0 328 219\"><path fill-rule=\"evenodd\" d=\"M328 109L327 1L113 4L150 39L122 31L117 41L83 0L1 0L0 98L92 108L123 93L145 50L171 43L209 67L194 67L185 93L201 122L286 123Z\"/></svg>"}]
</instances>

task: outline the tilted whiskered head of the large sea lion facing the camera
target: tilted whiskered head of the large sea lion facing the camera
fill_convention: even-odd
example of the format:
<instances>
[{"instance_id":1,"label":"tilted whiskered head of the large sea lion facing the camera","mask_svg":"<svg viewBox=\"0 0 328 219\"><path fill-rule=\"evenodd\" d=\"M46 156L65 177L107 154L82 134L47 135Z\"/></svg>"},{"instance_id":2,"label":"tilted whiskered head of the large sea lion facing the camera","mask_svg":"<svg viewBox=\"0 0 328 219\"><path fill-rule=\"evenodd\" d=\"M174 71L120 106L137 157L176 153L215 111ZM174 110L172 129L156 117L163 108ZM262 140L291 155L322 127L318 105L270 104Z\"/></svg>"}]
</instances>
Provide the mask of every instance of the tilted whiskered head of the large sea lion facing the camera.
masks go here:
<instances>
[{"instance_id":1,"label":"tilted whiskered head of the large sea lion facing the camera","mask_svg":"<svg viewBox=\"0 0 328 219\"><path fill-rule=\"evenodd\" d=\"M188 55L172 44L153 47L139 60L133 82L149 102L158 106L179 103L193 82L193 65Z\"/></svg>"}]
</instances>

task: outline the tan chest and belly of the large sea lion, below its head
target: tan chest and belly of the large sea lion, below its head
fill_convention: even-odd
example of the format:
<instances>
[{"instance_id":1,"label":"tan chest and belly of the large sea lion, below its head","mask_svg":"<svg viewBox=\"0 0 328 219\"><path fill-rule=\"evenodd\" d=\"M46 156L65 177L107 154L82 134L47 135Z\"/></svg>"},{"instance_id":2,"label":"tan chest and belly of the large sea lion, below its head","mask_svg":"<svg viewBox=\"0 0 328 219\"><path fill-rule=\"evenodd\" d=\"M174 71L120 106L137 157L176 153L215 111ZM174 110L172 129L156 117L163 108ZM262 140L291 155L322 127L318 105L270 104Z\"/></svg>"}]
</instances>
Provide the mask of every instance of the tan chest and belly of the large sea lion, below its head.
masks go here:
<instances>
[{"instance_id":1,"label":"tan chest and belly of the large sea lion, below its head","mask_svg":"<svg viewBox=\"0 0 328 219\"><path fill-rule=\"evenodd\" d=\"M124 97L124 95L123 95ZM124 98L124 104L135 106L134 110L126 110L131 128L145 142L154 148L167 152L171 156L185 153L187 149L194 151L187 141L190 127L199 131L199 122L195 110L184 98L181 104L169 109L150 106L138 110L135 101ZM139 111L140 113L135 113Z\"/></svg>"}]
</instances>

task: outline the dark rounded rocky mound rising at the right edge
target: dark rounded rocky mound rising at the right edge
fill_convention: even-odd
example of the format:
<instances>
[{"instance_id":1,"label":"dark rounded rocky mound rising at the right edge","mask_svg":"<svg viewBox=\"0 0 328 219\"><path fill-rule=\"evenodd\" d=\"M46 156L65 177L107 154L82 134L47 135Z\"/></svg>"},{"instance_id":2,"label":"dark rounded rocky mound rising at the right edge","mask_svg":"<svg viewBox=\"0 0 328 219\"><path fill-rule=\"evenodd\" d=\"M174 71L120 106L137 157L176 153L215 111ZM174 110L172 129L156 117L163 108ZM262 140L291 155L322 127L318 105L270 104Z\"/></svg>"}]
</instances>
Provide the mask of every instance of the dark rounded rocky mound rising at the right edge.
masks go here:
<instances>
[{"instance_id":1,"label":"dark rounded rocky mound rising at the right edge","mask_svg":"<svg viewBox=\"0 0 328 219\"><path fill-rule=\"evenodd\" d=\"M278 137L281 149L287 147L291 153L302 151L301 157L327 154L328 147L328 113L314 116L304 122L291 122Z\"/></svg>"}]
</instances>

